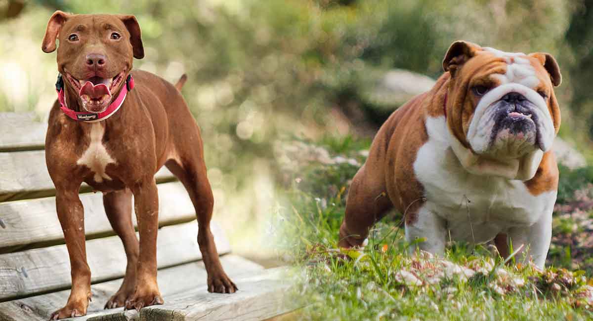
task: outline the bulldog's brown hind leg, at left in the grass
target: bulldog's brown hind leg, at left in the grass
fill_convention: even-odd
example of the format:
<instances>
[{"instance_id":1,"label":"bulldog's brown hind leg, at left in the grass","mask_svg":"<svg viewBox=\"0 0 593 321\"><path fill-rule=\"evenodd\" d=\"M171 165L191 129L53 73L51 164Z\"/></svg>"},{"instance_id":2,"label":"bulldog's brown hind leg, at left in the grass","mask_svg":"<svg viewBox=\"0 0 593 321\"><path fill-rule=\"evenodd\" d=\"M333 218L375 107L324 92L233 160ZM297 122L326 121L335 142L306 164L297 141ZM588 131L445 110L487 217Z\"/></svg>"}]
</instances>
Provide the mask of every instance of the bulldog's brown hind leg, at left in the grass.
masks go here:
<instances>
[{"instance_id":1,"label":"bulldog's brown hind leg, at left in the grass","mask_svg":"<svg viewBox=\"0 0 593 321\"><path fill-rule=\"evenodd\" d=\"M368 164L365 163L358 170L350 184L346 214L340 226L338 246L341 248L361 246L372 225L393 207L385 192L384 173L378 170L368 171L366 166Z\"/></svg>"}]
</instances>

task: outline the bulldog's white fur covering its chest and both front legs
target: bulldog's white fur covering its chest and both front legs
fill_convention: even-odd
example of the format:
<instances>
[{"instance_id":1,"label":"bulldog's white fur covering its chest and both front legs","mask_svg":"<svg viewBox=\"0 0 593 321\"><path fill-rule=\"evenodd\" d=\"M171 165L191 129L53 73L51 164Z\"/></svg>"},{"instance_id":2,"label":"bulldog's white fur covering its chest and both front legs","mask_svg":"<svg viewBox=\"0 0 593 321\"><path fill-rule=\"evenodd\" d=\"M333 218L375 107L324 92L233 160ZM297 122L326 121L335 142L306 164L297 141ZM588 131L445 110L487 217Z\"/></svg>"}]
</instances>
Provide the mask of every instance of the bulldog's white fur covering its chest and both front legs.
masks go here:
<instances>
[{"instance_id":1,"label":"bulldog's white fur covering its chest and both front legs","mask_svg":"<svg viewBox=\"0 0 593 321\"><path fill-rule=\"evenodd\" d=\"M525 244L543 267L551 239L556 191L534 196L524 182L473 174L455 155L445 117L426 120L428 142L418 150L414 171L425 188L419 220L406 225L406 239L428 237L419 248L442 255L449 240L483 243L507 233L514 248ZM524 255L527 252L524 251Z\"/></svg>"}]
</instances>

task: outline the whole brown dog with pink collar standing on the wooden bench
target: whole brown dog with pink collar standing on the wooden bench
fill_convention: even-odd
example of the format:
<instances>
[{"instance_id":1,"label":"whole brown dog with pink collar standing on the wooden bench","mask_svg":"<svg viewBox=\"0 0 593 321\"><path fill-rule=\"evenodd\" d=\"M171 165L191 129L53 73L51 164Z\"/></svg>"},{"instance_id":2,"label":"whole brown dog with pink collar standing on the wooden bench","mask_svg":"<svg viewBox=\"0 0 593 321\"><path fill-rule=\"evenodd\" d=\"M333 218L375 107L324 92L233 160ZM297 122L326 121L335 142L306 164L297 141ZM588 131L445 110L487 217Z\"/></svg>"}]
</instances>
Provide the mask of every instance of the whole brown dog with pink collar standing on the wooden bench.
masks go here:
<instances>
[{"instance_id":1,"label":"whole brown dog with pink collar standing on the wooden bench","mask_svg":"<svg viewBox=\"0 0 593 321\"><path fill-rule=\"evenodd\" d=\"M157 285L154 179L162 165L180 179L195 207L208 291L237 291L222 269L210 230L214 201L200 130L179 91L185 78L174 86L152 73L132 71L133 58L144 57L133 15L56 11L47 23L43 51L56 50L56 39L63 81L56 85L59 99L50 111L45 148L70 257L72 290L66 306L51 319L82 316L91 299L84 213L78 197L82 182L104 193L107 217L127 255L122 286L105 307L139 310L163 303ZM132 224L132 195L140 242Z\"/></svg>"}]
</instances>

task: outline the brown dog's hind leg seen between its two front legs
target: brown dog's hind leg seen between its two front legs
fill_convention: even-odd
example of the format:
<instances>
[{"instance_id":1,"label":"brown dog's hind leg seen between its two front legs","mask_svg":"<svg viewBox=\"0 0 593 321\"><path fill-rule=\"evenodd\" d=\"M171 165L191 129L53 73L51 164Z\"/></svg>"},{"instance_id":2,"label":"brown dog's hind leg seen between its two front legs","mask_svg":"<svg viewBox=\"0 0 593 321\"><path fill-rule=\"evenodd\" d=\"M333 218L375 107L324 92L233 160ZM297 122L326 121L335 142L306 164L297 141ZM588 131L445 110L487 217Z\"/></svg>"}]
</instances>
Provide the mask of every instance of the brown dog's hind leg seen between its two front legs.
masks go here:
<instances>
[{"instance_id":1,"label":"brown dog's hind leg seen between its two front legs","mask_svg":"<svg viewBox=\"0 0 593 321\"><path fill-rule=\"evenodd\" d=\"M111 309L124 306L126 300L132 298L134 294L139 243L132 223L132 191L126 189L104 194L103 205L111 227L122 239L127 257L126 275L123 278L122 286L105 304L105 309Z\"/></svg>"}]
</instances>

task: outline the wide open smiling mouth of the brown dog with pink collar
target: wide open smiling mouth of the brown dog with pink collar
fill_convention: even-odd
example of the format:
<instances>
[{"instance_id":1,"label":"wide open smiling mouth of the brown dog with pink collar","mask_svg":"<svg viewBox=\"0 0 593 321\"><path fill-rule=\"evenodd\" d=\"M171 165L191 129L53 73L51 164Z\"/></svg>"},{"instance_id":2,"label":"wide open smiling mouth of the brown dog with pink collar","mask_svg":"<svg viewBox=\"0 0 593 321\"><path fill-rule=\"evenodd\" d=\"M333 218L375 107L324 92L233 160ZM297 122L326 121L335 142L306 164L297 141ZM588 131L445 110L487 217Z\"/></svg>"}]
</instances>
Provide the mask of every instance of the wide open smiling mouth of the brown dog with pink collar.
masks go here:
<instances>
[{"instance_id":1,"label":"wide open smiling mouth of the brown dog with pink collar","mask_svg":"<svg viewBox=\"0 0 593 321\"><path fill-rule=\"evenodd\" d=\"M113 78L94 76L79 80L66 73L66 79L78 91L82 108L91 113L102 113L109 107L112 93L122 84L124 74L118 73Z\"/></svg>"}]
</instances>

